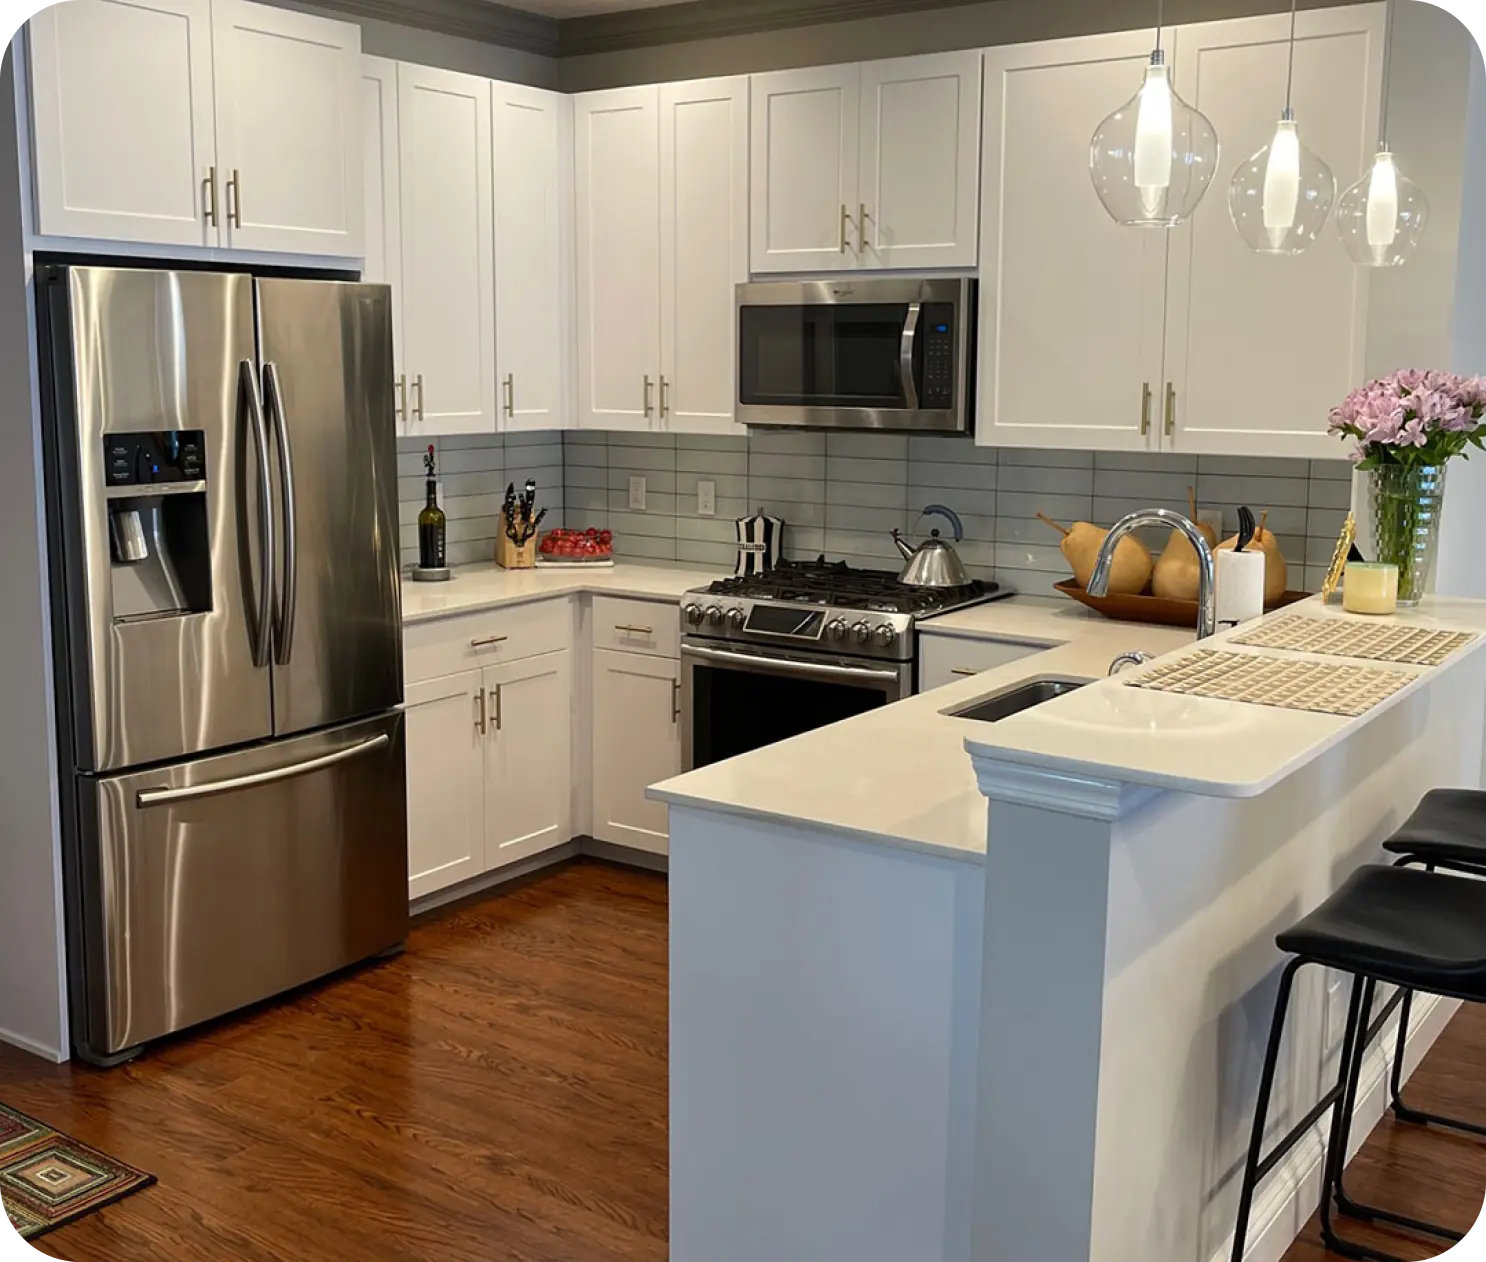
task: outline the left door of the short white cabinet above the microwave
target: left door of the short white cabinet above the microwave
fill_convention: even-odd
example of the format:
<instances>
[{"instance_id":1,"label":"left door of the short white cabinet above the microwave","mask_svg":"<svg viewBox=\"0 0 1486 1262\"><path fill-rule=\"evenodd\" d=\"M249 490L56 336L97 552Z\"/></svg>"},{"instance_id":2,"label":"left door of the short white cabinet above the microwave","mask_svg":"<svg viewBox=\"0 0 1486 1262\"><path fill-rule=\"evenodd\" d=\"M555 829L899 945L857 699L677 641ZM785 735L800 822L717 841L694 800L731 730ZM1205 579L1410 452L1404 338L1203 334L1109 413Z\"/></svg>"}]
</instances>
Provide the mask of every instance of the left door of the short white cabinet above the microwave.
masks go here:
<instances>
[{"instance_id":1,"label":"left door of the short white cabinet above the microwave","mask_svg":"<svg viewBox=\"0 0 1486 1262\"><path fill-rule=\"evenodd\" d=\"M752 79L755 272L854 268L862 73L856 65Z\"/></svg>"}]
</instances>

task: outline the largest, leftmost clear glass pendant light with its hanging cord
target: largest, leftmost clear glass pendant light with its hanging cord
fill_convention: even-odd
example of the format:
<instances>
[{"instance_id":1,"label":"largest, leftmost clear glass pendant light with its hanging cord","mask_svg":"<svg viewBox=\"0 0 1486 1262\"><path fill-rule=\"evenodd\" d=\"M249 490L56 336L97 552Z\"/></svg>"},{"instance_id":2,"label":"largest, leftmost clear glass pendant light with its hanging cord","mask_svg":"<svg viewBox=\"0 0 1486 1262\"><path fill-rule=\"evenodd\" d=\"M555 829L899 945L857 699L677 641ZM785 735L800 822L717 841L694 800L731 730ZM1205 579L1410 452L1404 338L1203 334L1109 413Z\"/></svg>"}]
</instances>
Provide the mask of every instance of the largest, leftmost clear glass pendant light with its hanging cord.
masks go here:
<instances>
[{"instance_id":1,"label":"largest, leftmost clear glass pendant light with its hanging cord","mask_svg":"<svg viewBox=\"0 0 1486 1262\"><path fill-rule=\"evenodd\" d=\"M1140 91L1100 123L1089 141L1089 175L1110 219L1135 227L1175 227L1196 210L1217 171L1217 132L1171 88L1161 48Z\"/></svg>"}]
</instances>

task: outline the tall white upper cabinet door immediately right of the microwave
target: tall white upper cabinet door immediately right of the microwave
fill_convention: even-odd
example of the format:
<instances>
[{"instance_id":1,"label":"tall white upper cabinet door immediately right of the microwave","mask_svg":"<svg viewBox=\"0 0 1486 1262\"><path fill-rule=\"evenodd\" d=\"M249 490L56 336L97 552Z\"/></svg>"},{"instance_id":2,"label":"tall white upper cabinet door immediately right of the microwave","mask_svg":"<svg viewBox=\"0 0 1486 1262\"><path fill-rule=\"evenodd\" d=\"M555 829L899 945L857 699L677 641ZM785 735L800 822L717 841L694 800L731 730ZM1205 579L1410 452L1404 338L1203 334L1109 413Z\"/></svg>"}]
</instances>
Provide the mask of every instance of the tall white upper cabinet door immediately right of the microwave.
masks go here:
<instances>
[{"instance_id":1,"label":"tall white upper cabinet door immediately right of the microwave","mask_svg":"<svg viewBox=\"0 0 1486 1262\"><path fill-rule=\"evenodd\" d=\"M1156 444L1167 233L1119 227L1089 181L1149 61L1146 31L985 54L978 443Z\"/></svg>"}]
</instances>

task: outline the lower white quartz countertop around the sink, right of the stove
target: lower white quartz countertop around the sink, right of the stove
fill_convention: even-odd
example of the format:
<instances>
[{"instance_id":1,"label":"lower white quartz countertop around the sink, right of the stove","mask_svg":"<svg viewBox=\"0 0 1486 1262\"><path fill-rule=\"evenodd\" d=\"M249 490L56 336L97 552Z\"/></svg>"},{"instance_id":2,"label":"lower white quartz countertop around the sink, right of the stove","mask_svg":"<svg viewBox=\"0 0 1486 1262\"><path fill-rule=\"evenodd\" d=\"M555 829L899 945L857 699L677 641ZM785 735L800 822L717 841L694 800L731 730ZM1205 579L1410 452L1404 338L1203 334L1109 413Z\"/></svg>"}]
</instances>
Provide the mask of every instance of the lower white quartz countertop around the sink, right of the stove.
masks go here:
<instances>
[{"instance_id":1,"label":"lower white quartz countertop around the sink, right of the stove","mask_svg":"<svg viewBox=\"0 0 1486 1262\"><path fill-rule=\"evenodd\" d=\"M1013 599L923 623L929 633L1048 644L982 675L655 785L661 801L984 862L985 798L964 742L987 724L944 709L1034 675L1097 678L1128 650L1168 653L1195 633L1114 623L1082 606ZM999 727L1000 724L997 724Z\"/></svg>"}]
</instances>

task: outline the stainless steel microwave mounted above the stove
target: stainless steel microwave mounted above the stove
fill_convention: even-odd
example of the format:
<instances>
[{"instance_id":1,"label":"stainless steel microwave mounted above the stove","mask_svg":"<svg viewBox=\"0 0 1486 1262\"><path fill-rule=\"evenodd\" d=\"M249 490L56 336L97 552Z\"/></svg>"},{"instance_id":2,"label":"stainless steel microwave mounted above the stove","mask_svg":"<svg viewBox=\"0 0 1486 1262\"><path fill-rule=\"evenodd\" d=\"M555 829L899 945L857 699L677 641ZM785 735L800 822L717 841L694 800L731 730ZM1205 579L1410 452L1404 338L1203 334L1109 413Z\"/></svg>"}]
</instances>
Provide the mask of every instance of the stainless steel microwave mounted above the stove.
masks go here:
<instances>
[{"instance_id":1,"label":"stainless steel microwave mounted above the stove","mask_svg":"<svg viewBox=\"0 0 1486 1262\"><path fill-rule=\"evenodd\" d=\"M737 419L967 434L975 302L960 276L739 285Z\"/></svg>"}]
</instances>

